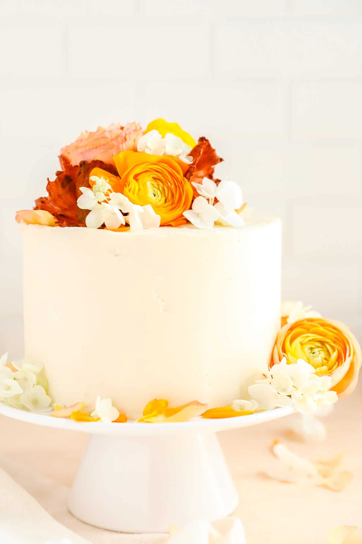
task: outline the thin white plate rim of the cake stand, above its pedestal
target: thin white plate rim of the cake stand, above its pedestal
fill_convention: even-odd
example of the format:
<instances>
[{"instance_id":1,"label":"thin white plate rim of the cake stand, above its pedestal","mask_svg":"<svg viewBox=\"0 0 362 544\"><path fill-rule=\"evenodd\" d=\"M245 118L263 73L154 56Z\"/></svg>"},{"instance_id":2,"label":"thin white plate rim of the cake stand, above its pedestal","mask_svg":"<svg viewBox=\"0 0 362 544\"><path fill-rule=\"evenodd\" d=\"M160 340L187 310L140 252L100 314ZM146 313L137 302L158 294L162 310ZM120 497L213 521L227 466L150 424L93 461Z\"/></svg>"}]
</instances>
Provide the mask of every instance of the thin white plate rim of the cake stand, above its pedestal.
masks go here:
<instances>
[{"instance_id":1,"label":"thin white plate rim of the cake stand, above its pedestal","mask_svg":"<svg viewBox=\"0 0 362 544\"><path fill-rule=\"evenodd\" d=\"M155 436L167 435L179 432L219 432L239 429L261 423L274 421L284 416L295 413L293 407L275 408L265 412L250 414L249 416L237 416L223 419L193 418L180 423L100 423L100 422L76 422L72 419L50 417L49 413L34 413L14 408L0 402L0 415L17 419L26 423L47 426L53 429L65 429L86 432L91 435L106 436Z\"/></svg>"}]
</instances>

